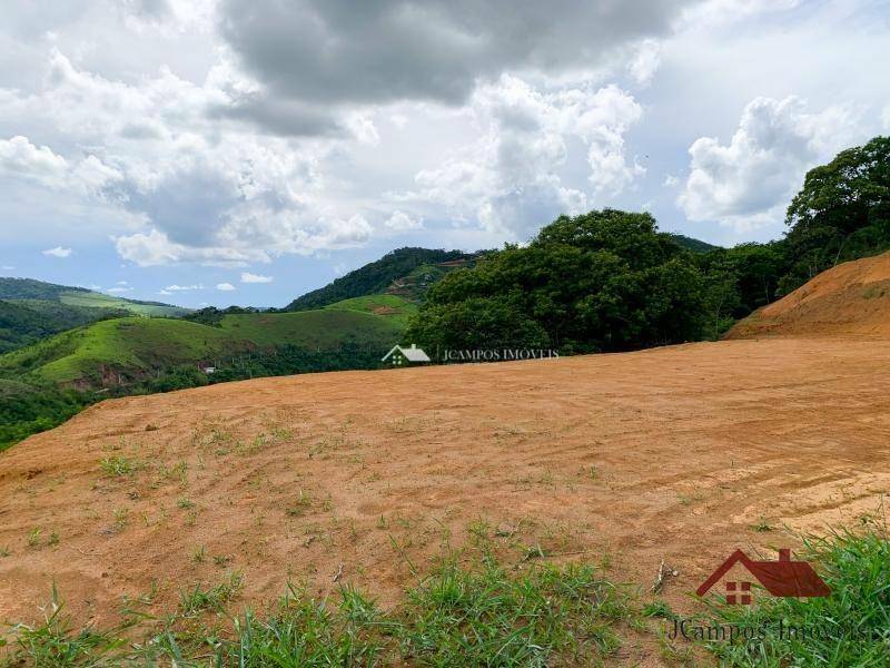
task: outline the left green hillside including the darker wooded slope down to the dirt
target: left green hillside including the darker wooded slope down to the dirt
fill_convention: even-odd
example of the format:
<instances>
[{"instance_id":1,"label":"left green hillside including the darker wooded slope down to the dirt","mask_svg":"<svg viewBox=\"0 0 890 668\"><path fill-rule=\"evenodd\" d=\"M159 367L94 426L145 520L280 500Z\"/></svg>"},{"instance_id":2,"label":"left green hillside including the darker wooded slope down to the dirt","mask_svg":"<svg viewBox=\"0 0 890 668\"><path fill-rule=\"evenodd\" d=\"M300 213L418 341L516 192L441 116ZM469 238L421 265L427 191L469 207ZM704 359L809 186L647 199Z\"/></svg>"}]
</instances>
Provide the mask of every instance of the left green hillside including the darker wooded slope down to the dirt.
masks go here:
<instances>
[{"instance_id":1,"label":"left green hillside including the darker wooded slope down to the dirt","mask_svg":"<svg viewBox=\"0 0 890 668\"><path fill-rule=\"evenodd\" d=\"M0 355L0 450L108 396L375 369L415 311L378 295L297 313L217 313L207 323L127 316L56 334Z\"/></svg>"}]
</instances>

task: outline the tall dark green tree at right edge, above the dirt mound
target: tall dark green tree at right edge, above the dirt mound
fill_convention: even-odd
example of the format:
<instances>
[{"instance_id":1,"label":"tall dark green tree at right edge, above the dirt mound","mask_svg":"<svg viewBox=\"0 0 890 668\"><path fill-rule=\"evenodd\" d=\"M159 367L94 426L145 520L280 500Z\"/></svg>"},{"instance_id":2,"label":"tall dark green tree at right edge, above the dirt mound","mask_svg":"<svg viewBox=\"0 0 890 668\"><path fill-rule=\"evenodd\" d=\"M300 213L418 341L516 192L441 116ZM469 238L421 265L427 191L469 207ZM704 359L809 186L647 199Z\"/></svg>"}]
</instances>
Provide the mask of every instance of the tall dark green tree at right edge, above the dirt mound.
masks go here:
<instances>
[{"instance_id":1,"label":"tall dark green tree at right edge, above the dirt mound","mask_svg":"<svg viewBox=\"0 0 890 668\"><path fill-rule=\"evenodd\" d=\"M839 262L890 248L890 137L841 151L807 173L787 223L783 292Z\"/></svg>"}]
</instances>

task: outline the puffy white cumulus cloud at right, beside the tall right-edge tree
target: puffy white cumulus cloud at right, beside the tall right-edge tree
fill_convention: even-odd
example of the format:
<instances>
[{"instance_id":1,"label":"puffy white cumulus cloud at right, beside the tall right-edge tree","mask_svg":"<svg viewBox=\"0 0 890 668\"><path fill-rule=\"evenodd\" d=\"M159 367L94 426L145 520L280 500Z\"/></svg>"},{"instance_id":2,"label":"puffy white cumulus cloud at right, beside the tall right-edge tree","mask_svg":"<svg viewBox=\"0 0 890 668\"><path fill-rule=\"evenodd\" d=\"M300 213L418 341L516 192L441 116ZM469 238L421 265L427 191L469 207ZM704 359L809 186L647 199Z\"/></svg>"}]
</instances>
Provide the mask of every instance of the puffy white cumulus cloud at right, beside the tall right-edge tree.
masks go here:
<instances>
[{"instance_id":1,"label":"puffy white cumulus cloud at right, beside the tall right-edge tree","mask_svg":"<svg viewBox=\"0 0 890 668\"><path fill-rule=\"evenodd\" d=\"M842 106L810 112L795 97L756 98L745 106L729 144L712 137L692 144L678 205L692 220L740 229L775 222L807 170L851 140L853 117Z\"/></svg>"}]
</instances>

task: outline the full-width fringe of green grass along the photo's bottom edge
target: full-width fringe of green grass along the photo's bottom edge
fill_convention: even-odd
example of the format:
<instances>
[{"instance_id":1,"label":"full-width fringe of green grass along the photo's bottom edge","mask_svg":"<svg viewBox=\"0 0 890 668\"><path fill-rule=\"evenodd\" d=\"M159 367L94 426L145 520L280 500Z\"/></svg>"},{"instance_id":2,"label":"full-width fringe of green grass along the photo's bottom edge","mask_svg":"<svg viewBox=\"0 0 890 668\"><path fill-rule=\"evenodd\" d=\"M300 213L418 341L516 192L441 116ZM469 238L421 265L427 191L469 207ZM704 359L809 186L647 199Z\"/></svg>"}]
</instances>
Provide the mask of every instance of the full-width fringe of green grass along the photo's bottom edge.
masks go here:
<instances>
[{"instance_id":1,"label":"full-width fringe of green grass along the photo's bottom edge","mask_svg":"<svg viewBox=\"0 0 890 668\"><path fill-rule=\"evenodd\" d=\"M523 571L483 552L473 568L455 556L444 559L393 610L348 584L322 601L291 584L261 613L235 616L227 610L243 581L233 573L212 587L184 589L166 617L145 611L149 595L127 603L118 628L76 629L53 591L44 623L18 625L8 640L0 636L0 667L590 666L616 661L627 632L652 633L669 665L890 665L886 532L839 532L808 540L807 548L803 557L832 596L763 599L753 607L705 602L695 617L702 628L765 629L753 640L669 642L651 618L673 618L670 608L662 601L641 608L630 588L612 584L596 567L528 562ZM812 632L783 638L780 623Z\"/></svg>"}]
</instances>

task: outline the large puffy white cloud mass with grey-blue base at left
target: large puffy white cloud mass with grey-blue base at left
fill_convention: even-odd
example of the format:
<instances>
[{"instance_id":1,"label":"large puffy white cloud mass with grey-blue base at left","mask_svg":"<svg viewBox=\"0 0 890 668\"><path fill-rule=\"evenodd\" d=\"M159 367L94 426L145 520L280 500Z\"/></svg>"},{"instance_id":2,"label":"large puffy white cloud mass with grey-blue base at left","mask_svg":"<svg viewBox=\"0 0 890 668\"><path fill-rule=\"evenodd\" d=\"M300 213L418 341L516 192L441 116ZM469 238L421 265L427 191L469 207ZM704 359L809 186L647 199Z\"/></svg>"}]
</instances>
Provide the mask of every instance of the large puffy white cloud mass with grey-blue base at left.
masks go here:
<instances>
[{"instance_id":1,"label":"large puffy white cloud mass with grey-blue base at left","mask_svg":"<svg viewBox=\"0 0 890 668\"><path fill-rule=\"evenodd\" d=\"M226 62L202 85L169 69L130 85L82 71L55 50L44 88L18 95L13 107L68 144L101 146L101 157L16 136L0 141L0 174L76 191L141 220L142 229L115 236L119 255L141 266L238 266L365 243L370 227L360 214L343 215L319 199L318 159L332 146L300 149L214 116L249 89ZM366 116L348 121L357 141L378 140Z\"/></svg>"}]
</instances>

